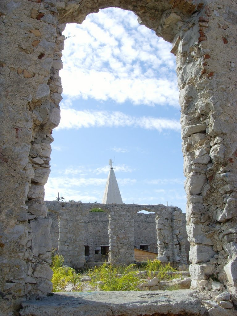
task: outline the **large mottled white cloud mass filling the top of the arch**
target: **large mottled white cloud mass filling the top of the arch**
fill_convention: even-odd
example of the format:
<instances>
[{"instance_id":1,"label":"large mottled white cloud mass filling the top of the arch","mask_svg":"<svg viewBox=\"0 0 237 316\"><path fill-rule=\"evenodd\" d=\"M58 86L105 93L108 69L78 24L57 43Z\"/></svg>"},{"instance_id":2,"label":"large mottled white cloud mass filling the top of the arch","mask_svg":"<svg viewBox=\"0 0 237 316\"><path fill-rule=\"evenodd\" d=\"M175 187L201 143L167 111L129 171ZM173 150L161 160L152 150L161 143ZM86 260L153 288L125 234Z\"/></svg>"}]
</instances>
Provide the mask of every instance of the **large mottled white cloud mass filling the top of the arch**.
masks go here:
<instances>
[{"instance_id":1,"label":"large mottled white cloud mass filling the top of the arch","mask_svg":"<svg viewBox=\"0 0 237 316\"><path fill-rule=\"evenodd\" d=\"M64 35L71 36L60 71L68 97L178 107L171 44L139 25L132 12L101 10L82 25L68 24Z\"/></svg>"}]
</instances>

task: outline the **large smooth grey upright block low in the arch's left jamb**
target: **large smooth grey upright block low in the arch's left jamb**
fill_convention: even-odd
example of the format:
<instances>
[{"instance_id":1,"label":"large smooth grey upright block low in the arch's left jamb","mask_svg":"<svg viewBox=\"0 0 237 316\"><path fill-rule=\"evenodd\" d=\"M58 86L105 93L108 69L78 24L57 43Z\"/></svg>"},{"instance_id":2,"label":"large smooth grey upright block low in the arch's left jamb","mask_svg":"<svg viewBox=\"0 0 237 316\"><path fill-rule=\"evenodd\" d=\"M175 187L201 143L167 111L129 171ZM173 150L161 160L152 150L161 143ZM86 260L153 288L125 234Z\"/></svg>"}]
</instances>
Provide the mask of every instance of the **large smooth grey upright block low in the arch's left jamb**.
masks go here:
<instances>
[{"instance_id":1,"label":"large smooth grey upright block low in the arch's left jamb","mask_svg":"<svg viewBox=\"0 0 237 316\"><path fill-rule=\"evenodd\" d=\"M31 250L34 256L45 254L52 250L52 242L50 235L50 226L52 220L46 218L39 218L30 223L33 232Z\"/></svg>"}]
</instances>

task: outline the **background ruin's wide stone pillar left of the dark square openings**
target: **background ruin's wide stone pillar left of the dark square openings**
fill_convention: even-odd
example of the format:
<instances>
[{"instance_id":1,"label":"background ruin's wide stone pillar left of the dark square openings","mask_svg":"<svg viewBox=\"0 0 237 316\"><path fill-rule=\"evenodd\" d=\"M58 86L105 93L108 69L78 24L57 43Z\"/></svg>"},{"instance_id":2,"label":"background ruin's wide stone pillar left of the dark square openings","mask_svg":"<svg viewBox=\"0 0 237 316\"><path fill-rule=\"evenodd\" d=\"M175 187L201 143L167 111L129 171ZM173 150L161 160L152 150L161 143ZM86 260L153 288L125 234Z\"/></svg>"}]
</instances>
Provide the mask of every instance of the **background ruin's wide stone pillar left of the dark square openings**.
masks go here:
<instances>
[{"instance_id":1,"label":"background ruin's wide stone pillar left of the dark square openings","mask_svg":"<svg viewBox=\"0 0 237 316\"><path fill-rule=\"evenodd\" d=\"M59 221L58 252L70 267L84 266L84 231L84 214L79 205L65 209Z\"/></svg>"}]
</instances>

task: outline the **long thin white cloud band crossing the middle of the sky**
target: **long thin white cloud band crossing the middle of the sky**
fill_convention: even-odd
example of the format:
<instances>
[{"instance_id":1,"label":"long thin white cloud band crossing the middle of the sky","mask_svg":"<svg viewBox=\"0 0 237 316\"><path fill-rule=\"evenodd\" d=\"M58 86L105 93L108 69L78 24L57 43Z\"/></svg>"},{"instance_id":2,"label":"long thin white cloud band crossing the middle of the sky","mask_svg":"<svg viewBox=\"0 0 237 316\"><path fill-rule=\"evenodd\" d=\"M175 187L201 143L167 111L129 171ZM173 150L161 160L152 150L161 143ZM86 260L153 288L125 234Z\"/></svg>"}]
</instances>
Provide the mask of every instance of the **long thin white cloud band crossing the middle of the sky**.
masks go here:
<instances>
[{"instance_id":1,"label":"long thin white cloud band crossing the middle of the sky","mask_svg":"<svg viewBox=\"0 0 237 316\"><path fill-rule=\"evenodd\" d=\"M178 120L145 116L135 117L118 111L76 111L74 109L61 109L61 121L57 129L79 129L92 126L131 126L160 132L166 129L180 131L180 123Z\"/></svg>"}]
</instances>

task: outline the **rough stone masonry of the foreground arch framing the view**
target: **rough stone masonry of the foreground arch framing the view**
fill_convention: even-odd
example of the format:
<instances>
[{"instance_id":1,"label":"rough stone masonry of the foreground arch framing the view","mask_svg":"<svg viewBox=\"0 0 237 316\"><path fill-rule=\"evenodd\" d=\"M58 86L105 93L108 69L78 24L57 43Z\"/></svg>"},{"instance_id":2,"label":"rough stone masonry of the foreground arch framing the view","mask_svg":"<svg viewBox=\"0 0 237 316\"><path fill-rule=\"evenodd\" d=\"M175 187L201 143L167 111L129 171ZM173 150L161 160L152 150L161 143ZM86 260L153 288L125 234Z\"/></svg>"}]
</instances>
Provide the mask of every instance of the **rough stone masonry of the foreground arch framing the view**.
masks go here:
<instances>
[{"instance_id":1,"label":"rough stone masonry of the foreground arch framing the view","mask_svg":"<svg viewBox=\"0 0 237 316\"><path fill-rule=\"evenodd\" d=\"M52 289L44 185L60 120L66 23L133 11L173 44L180 90L192 288L215 275L237 302L235 0L1 0L1 310ZM145 87L144 87L145 88ZM82 136L83 137L83 136Z\"/></svg>"}]
</instances>

